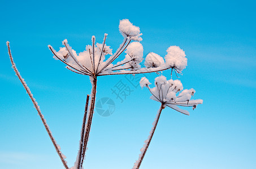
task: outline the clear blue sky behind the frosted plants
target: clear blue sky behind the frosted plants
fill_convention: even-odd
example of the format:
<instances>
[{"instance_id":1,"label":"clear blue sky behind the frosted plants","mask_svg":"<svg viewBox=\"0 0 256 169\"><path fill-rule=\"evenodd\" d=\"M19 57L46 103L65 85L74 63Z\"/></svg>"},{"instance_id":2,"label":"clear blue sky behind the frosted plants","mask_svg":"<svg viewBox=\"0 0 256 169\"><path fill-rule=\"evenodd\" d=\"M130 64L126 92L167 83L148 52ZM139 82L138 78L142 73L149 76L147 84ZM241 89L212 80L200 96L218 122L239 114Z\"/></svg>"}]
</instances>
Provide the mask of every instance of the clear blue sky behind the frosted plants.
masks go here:
<instances>
[{"instance_id":1,"label":"clear blue sky behind the frosted plants","mask_svg":"<svg viewBox=\"0 0 256 169\"><path fill-rule=\"evenodd\" d=\"M256 21L254 1L3 1L0 17L0 166L63 168L54 146L7 55L18 69L71 167L76 158L89 78L53 59L47 45L63 39L77 51L91 43L115 51L119 20L143 33L145 54L180 46L188 66L179 79L203 104L190 116L164 109L142 162L150 168L256 168ZM163 72L170 78L170 71ZM151 82L157 74L147 75ZM173 77L176 78L176 77ZM123 103L112 94L119 81L132 88ZM97 100L110 97L115 112L94 114L86 168L132 168L159 103L123 75L99 77ZM97 101L96 100L96 101Z\"/></svg>"}]
</instances>

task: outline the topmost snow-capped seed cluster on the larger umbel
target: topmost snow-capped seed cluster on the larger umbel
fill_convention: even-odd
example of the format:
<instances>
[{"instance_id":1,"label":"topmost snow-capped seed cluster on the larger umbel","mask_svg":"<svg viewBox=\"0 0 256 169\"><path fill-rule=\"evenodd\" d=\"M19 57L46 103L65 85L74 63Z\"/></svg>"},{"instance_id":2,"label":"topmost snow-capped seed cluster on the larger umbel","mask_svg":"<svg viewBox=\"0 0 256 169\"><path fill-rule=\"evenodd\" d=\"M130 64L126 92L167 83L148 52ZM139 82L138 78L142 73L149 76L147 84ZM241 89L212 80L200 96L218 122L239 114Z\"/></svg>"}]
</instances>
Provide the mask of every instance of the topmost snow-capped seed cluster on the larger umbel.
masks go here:
<instances>
[{"instance_id":1,"label":"topmost snow-capped seed cluster on the larger umbel","mask_svg":"<svg viewBox=\"0 0 256 169\"><path fill-rule=\"evenodd\" d=\"M142 41L140 28L134 26L128 19L120 20L119 31L124 37L130 37L133 41Z\"/></svg>"}]
</instances>

